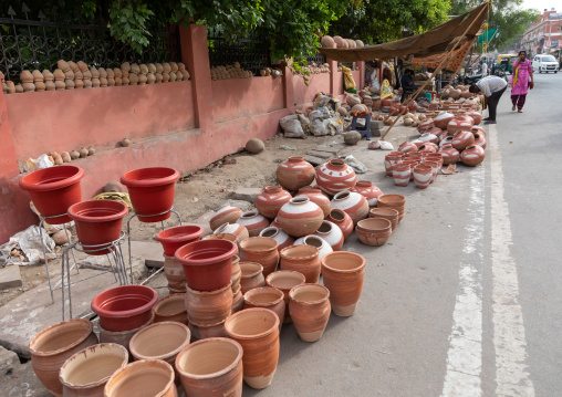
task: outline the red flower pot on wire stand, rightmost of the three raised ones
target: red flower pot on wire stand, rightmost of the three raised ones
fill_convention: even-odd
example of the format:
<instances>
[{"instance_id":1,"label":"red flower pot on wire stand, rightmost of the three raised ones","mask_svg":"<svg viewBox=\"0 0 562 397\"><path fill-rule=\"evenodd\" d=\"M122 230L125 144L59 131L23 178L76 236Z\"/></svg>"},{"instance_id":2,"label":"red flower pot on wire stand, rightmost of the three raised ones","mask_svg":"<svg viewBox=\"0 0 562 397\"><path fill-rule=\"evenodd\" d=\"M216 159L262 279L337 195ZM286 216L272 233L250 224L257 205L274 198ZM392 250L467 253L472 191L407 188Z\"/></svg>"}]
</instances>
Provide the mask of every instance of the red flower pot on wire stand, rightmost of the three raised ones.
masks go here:
<instances>
[{"instance_id":1,"label":"red flower pot on wire stand, rightmost of the three raised ones","mask_svg":"<svg viewBox=\"0 0 562 397\"><path fill-rule=\"evenodd\" d=\"M170 217L174 206L174 187L179 173L171 168L139 168L126 173L121 182L128 189L133 208L142 222L159 222Z\"/></svg>"}]
</instances>

